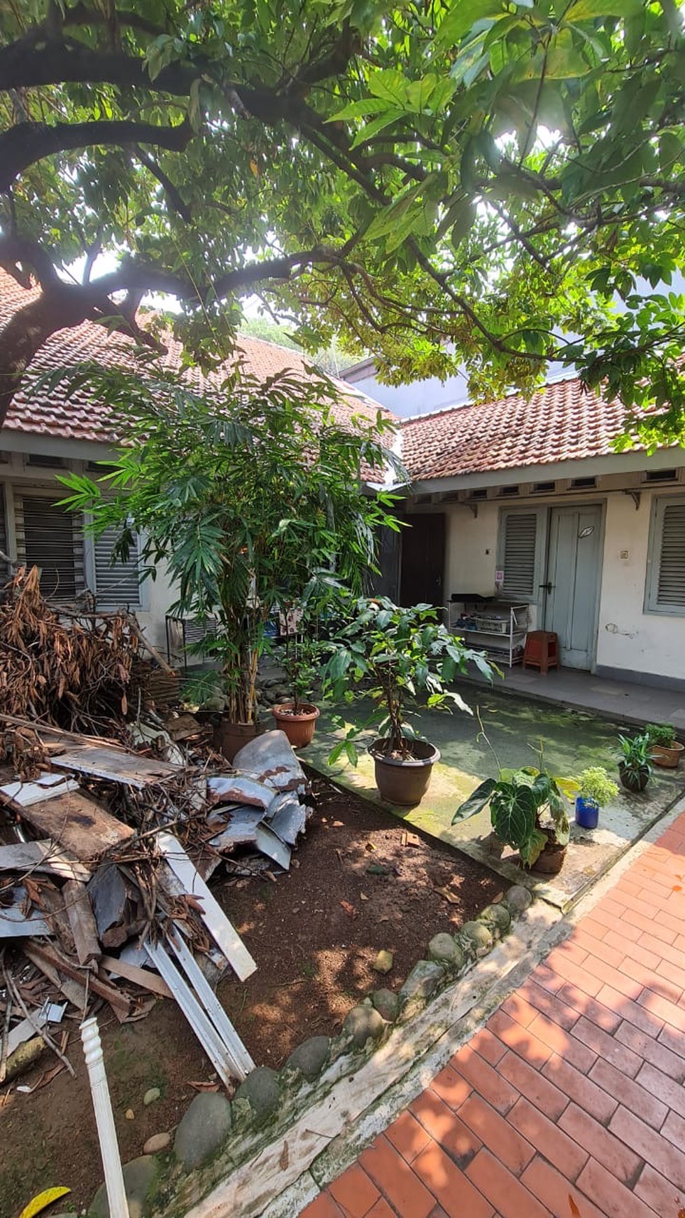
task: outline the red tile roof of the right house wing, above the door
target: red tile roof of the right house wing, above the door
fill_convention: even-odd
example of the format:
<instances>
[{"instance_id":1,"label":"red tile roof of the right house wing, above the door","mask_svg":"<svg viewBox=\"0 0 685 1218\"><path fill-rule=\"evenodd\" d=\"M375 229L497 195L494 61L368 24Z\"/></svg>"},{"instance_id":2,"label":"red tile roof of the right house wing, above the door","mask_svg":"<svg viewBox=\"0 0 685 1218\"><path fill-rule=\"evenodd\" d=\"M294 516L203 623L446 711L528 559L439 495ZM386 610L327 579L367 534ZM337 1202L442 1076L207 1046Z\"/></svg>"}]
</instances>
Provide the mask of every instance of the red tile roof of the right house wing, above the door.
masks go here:
<instances>
[{"instance_id":1,"label":"red tile roof of the right house wing, above the door","mask_svg":"<svg viewBox=\"0 0 685 1218\"><path fill-rule=\"evenodd\" d=\"M412 481L483 474L606 457L625 420L578 378L545 385L524 398L505 397L403 421L403 460Z\"/></svg>"}]
</instances>

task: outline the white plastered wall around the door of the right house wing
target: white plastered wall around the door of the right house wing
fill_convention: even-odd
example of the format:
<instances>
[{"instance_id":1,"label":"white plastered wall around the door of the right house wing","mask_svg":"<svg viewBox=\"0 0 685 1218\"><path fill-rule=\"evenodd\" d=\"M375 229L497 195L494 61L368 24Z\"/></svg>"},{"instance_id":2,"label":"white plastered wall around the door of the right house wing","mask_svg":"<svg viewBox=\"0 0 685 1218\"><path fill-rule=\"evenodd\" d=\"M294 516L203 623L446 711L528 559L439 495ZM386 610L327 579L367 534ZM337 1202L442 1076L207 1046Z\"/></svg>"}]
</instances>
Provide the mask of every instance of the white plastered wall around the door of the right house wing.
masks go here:
<instances>
[{"instance_id":1,"label":"white plastered wall around the door of the right house wing","mask_svg":"<svg viewBox=\"0 0 685 1218\"><path fill-rule=\"evenodd\" d=\"M656 677L657 683L659 678L664 683L685 682L685 616L644 610L652 501L656 496L683 493L683 485L641 490L638 509L630 495L617 487L610 493L602 490L583 496L557 495L554 499L535 496L479 501L477 515L466 503L408 507L408 518L436 510L445 514L445 599L453 592L492 597L495 593L500 510L601 503L605 531L594 669L606 676L644 678L646 683L650 677ZM541 625L541 607L533 605L530 627Z\"/></svg>"}]
</instances>

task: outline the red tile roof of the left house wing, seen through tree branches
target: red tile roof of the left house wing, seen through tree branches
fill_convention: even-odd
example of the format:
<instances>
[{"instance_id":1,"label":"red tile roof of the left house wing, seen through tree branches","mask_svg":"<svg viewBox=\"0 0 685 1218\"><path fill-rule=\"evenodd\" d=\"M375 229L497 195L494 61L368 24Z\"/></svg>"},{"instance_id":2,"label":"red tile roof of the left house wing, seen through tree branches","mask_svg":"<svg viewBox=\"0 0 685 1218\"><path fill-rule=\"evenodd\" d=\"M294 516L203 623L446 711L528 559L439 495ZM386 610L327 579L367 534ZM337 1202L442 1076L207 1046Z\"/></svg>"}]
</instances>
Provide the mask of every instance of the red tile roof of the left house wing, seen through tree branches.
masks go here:
<instances>
[{"instance_id":1,"label":"red tile roof of the left house wing, seen through tree branches","mask_svg":"<svg viewBox=\"0 0 685 1218\"><path fill-rule=\"evenodd\" d=\"M1 331L7 319L23 304L38 295L37 289L27 291L11 275L0 270L0 342ZM162 363L172 369L180 367L181 345L170 335L164 339L167 353ZM273 376L286 369L309 380L307 361L298 351L280 347L275 342L264 342L241 335L240 351L245 367L260 379ZM82 325L60 330L35 354L29 371L38 375L54 371L57 368L95 361L100 364L135 367L134 343L123 334L111 333L95 322L83 322ZM203 376L200 369L190 369L189 378L195 389L220 381L224 373ZM344 381L331 378L339 389L341 397L333 406L338 423L349 421L353 415L375 421L378 409L383 415L392 417L389 410L380 407L366 395L358 392ZM86 387L77 390L72 397L66 397L66 384L55 390L40 392L19 389L5 423L7 431L21 431L30 435L54 436L61 440L88 440L101 443L117 443L117 419L106 402L97 401Z\"/></svg>"}]
</instances>

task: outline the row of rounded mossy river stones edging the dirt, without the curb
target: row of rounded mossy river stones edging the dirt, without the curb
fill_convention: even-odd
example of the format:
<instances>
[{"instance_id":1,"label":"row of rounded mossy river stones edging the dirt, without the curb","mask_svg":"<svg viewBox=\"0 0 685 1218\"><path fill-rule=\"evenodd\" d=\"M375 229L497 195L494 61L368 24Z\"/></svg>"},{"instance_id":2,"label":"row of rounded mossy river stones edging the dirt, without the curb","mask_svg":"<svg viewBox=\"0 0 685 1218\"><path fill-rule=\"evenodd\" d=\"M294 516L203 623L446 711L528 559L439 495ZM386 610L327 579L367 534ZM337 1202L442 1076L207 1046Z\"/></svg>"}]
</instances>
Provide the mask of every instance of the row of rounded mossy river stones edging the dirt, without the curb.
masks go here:
<instances>
[{"instance_id":1,"label":"row of rounded mossy river stones edging the dirt, without the curb","mask_svg":"<svg viewBox=\"0 0 685 1218\"><path fill-rule=\"evenodd\" d=\"M512 921L528 920L532 903L530 890L513 884L500 903L487 905L456 934L439 932L433 935L428 959L416 962L399 993L374 990L348 1012L338 1035L310 1037L291 1052L280 1071L256 1067L240 1084L231 1102L219 1095L196 1096L179 1124L174 1150L155 1156L158 1172L145 1199L144 1216L185 1218L190 1207L219 1181L230 1186L232 1172L281 1138L279 1163L285 1173L291 1153L287 1135L298 1118L325 1101L341 1079L348 1077L354 1085L353 1077L393 1032L402 1037L403 1030L411 1030L415 1021L429 1018L431 1006L438 1005L436 1000L447 990L461 989L461 978L493 951L512 928ZM537 905L546 911L541 918L541 929L546 929L550 916L555 920L556 916L544 903ZM472 998L475 1000L476 994ZM475 1001L467 1004L467 1010L473 1005ZM400 1065L395 1074L402 1072ZM221 1119L208 1122L204 1108L208 1099L221 1101ZM315 1135L314 1130L311 1133ZM257 1200L259 1207L251 1206L249 1213L259 1214L271 1200L273 1194L265 1196L263 1203ZM97 1201L97 1209L91 1206L91 1218L108 1218L106 1202L102 1207L102 1189ZM243 1213L242 1209L235 1212Z\"/></svg>"}]
</instances>

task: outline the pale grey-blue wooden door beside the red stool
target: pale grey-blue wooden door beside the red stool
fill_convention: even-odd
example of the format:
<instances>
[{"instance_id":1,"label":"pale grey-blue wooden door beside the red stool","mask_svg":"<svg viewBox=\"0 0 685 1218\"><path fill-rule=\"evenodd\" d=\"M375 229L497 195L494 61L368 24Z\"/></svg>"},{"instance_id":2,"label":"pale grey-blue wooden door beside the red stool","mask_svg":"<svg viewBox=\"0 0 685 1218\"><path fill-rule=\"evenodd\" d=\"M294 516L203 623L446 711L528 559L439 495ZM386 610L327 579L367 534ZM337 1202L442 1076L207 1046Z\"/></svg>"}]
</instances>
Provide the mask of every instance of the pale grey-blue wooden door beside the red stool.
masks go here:
<instances>
[{"instance_id":1,"label":"pale grey-blue wooden door beside the red stool","mask_svg":"<svg viewBox=\"0 0 685 1218\"><path fill-rule=\"evenodd\" d=\"M550 513L545 630L558 635L560 660L569 669L593 664L601 524L596 504Z\"/></svg>"}]
</instances>

